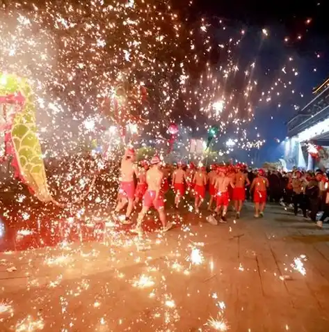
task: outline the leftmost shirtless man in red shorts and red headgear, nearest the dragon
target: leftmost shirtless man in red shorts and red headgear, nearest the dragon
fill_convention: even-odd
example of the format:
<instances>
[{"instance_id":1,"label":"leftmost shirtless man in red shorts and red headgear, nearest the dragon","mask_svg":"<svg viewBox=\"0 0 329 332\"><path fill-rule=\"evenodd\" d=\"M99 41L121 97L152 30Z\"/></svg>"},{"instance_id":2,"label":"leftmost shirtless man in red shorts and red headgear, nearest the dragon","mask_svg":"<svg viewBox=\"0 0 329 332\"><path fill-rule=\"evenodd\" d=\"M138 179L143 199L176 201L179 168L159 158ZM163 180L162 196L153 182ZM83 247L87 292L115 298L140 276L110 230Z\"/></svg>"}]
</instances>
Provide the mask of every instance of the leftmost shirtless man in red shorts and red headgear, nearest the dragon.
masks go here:
<instances>
[{"instance_id":1,"label":"leftmost shirtless man in red shorts and red headgear, nearest the dragon","mask_svg":"<svg viewBox=\"0 0 329 332\"><path fill-rule=\"evenodd\" d=\"M120 210L128 203L125 223L131 223L130 215L134 208L136 166L134 165L135 152L128 149L121 161L120 188L118 194L118 205L115 207L114 214L118 216Z\"/></svg>"}]
</instances>

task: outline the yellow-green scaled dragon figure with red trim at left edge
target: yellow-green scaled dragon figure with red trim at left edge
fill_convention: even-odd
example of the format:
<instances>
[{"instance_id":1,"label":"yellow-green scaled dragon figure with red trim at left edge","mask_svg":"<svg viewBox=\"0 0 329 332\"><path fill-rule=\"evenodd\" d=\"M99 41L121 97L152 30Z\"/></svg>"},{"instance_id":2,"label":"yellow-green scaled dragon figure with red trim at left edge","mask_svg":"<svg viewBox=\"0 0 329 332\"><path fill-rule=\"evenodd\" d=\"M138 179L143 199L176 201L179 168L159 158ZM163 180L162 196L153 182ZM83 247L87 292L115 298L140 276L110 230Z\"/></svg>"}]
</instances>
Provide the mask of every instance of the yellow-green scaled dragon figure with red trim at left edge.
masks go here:
<instances>
[{"instance_id":1,"label":"yellow-green scaled dragon figure with red trim at left edge","mask_svg":"<svg viewBox=\"0 0 329 332\"><path fill-rule=\"evenodd\" d=\"M0 106L3 114L0 134L4 136L5 143L2 161L8 156L13 157L15 177L19 177L29 187L29 191L42 202L61 205L51 196L47 184L35 123L33 91L27 79L15 74L0 73ZM95 177L88 191L94 182Z\"/></svg>"}]
</instances>

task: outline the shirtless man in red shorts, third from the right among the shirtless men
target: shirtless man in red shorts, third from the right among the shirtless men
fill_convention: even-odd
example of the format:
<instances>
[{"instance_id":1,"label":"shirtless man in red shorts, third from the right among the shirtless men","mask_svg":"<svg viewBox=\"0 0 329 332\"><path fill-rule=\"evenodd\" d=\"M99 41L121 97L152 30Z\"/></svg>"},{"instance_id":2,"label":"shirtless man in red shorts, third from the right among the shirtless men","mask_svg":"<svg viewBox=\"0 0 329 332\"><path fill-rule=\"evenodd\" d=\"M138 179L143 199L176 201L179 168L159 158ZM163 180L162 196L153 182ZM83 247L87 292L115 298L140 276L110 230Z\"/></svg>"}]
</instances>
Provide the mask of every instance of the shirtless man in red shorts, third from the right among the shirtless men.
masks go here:
<instances>
[{"instance_id":1,"label":"shirtless man in red shorts, third from the right among the shirtless men","mask_svg":"<svg viewBox=\"0 0 329 332\"><path fill-rule=\"evenodd\" d=\"M234 188L234 184L232 179L226 175L226 168L225 167L218 167L218 175L216 176L215 180L215 189L216 189L216 209L215 213L219 214L220 210L222 210L222 214L220 217L220 222L226 222L226 213L227 207L230 203L230 196L229 196L229 187Z\"/></svg>"}]
</instances>

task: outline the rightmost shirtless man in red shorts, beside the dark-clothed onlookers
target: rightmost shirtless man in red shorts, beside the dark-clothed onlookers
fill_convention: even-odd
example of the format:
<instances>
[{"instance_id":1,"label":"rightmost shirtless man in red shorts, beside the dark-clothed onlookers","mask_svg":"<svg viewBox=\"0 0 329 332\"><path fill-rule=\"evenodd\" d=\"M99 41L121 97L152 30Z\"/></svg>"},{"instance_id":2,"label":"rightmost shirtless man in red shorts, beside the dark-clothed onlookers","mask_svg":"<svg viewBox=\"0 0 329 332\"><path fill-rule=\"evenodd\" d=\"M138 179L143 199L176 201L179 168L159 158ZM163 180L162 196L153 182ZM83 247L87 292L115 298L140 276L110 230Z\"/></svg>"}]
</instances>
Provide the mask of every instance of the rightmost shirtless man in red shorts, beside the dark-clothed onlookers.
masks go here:
<instances>
[{"instance_id":1,"label":"rightmost shirtless man in red shorts, beside the dark-clothed onlookers","mask_svg":"<svg viewBox=\"0 0 329 332\"><path fill-rule=\"evenodd\" d=\"M255 177L250 186L250 192L252 192L252 189L255 189L254 190L255 218L259 218L259 215L264 216L264 209L267 198L267 187L268 187L268 180L265 177L265 172L263 169L259 169L257 177Z\"/></svg>"}]
</instances>

